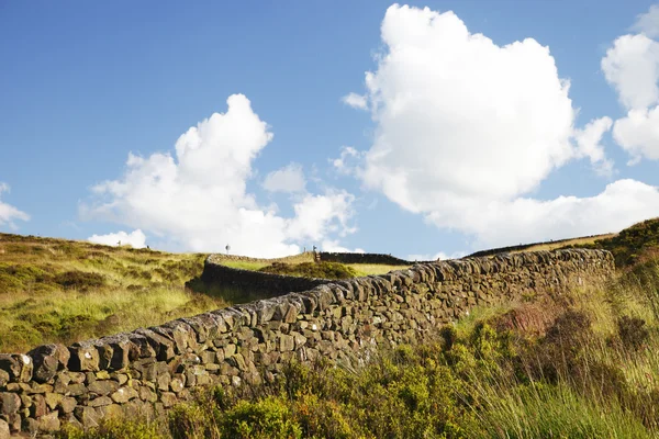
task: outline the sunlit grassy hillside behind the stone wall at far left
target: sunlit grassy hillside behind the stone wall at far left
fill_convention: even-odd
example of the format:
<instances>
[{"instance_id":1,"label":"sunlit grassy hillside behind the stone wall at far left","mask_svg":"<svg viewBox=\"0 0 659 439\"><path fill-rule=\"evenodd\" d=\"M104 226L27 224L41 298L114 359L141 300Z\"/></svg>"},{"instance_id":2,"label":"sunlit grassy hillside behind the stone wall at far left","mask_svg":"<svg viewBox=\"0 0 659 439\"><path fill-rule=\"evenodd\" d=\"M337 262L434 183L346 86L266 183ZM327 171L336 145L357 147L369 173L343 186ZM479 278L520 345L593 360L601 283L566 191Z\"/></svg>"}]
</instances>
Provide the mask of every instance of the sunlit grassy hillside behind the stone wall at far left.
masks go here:
<instances>
[{"instance_id":1,"label":"sunlit grassy hillside behind the stone wall at far left","mask_svg":"<svg viewBox=\"0 0 659 439\"><path fill-rule=\"evenodd\" d=\"M183 283L204 255L0 234L0 352L157 325L225 305Z\"/></svg>"}]
</instances>

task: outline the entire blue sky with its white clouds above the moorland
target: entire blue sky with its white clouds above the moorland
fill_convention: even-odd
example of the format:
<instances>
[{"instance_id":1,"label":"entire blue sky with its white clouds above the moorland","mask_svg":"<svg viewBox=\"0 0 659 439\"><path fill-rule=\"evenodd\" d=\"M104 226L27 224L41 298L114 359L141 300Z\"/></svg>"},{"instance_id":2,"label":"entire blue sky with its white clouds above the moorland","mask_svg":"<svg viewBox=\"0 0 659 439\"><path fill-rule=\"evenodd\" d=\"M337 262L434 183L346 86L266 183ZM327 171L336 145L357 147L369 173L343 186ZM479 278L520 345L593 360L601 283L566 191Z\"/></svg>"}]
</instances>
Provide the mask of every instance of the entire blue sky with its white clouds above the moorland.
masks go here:
<instances>
[{"instance_id":1,"label":"entire blue sky with its white clouds above the moorland","mask_svg":"<svg viewBox=\"0 0 659 439\"><path fill-rule=\"evenodd\" d=\"M0 230L425 258L659 215L651 1L409 4L0 2Z\"/></svg>"}]
</instances>

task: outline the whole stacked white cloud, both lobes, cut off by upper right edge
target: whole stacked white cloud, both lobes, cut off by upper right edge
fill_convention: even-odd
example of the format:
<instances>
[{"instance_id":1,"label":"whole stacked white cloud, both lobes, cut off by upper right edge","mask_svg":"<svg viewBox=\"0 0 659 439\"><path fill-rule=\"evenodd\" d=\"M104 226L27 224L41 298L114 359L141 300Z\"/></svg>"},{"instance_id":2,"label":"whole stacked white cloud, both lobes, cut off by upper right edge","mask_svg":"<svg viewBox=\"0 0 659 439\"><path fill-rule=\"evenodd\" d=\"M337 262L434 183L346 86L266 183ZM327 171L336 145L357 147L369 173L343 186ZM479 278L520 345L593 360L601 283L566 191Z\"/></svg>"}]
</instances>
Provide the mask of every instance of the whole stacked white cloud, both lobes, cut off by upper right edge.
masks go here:
<instances>
[{"instance_id":1,"label":"whole stacked white cloud, both lobes, cut off by upper right edge","mask_svg":"<svg viewBox=\"0 0 659 439\"><path fill-rule=\"evenodd\" d=\"M623 35L602 58L602 70L617 91L627 115L615 121L613 138L629 155L629 165L641 158L659 159L659 8L639 18L637 35Z\"/></svg>"}]
</instances>

